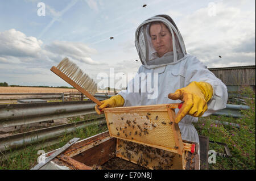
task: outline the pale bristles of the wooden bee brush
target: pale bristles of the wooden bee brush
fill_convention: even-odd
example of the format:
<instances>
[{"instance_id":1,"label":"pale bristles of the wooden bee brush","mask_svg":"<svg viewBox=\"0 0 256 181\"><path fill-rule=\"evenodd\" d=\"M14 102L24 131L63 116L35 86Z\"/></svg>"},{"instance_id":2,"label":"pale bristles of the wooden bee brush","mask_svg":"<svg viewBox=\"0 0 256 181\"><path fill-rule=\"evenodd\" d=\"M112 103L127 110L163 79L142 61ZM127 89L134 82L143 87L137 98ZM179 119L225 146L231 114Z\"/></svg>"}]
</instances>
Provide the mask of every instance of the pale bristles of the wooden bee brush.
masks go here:
<instances>
[{"instance_id":1,"label":"pale bristles of the wooden bee brush","mask_svg":"<svg viewBox=\"0 0 256 181\"><path fill-rule=\"evenodd\" d=\"M75 63L68 60L68 58L64 58L56 68L72 79L72 81L76 82L82 89L88 91L92 95L96 94L96 82L94 82L89 75L84 73Z\"/></svg>"}]
</instances>

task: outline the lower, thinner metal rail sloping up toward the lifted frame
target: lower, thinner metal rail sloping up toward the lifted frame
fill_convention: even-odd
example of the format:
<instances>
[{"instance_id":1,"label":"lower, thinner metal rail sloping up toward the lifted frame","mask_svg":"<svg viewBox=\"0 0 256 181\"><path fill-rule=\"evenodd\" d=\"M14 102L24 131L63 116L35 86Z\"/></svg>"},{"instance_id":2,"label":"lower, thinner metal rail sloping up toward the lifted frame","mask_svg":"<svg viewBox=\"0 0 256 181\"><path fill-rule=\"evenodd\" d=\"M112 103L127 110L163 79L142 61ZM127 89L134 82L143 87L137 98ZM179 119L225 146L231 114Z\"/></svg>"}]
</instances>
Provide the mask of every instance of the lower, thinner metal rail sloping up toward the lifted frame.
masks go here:
<instances>
[{"instance_id":1,"label":"lower, thinner metal rail sloping up toward the lifted frame","mask_svg":"<svg viewBox=\"0 0 256 181\"><path fill-rule=\"evenodd\" d=\"M106 120L104 117L79 121L76 123L58 125L55 127L43 128L36 131L18 133L12 136L2 137L0 138L0 150L6 151L10 149L17 149L24 145L34 144L39 141L59 137L65 133L68 134L71 132L75 132L77 131L77 129L85 128L89 125L101 124L106 124Z\"/></svg>"}]
</instances>

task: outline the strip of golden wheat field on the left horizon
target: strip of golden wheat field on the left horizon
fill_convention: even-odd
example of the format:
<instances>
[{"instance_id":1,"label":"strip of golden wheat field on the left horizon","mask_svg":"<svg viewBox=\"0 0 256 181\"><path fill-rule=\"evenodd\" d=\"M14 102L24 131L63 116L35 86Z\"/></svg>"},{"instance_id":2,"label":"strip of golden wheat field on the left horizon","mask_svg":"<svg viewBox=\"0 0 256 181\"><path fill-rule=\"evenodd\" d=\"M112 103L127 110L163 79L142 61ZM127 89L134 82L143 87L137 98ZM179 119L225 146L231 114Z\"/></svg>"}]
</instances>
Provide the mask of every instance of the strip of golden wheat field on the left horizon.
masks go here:
<instances>
[{"instance_id":1,"label":"strip of golden wheat field on the left horizon","mask_svg":"<svg viewBox=\"0 0 256 181\"><path fill-rule=\"evenodd\" d=\"M12 93L63 93L78 92L76 89L48 88L48 87L0 87L0 94Z\"/></svg>"}]
</instances>

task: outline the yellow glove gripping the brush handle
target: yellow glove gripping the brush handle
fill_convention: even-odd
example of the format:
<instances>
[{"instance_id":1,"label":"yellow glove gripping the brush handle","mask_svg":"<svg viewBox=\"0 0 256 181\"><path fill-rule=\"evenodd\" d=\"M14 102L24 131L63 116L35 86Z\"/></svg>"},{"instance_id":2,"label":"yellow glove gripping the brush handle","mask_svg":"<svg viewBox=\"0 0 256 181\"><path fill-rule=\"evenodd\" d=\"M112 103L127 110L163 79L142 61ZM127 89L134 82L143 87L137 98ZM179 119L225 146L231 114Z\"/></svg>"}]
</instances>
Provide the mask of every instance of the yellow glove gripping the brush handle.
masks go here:
<instances>
[{"instance_id":1,"label":"yellow glove gripping the brush handle","mask_svg":"<svg viewBox=\"0 0 256 181\"><path fill-rule=\"evenodd\" d=\"M98 115L101 114L101 110L106 107L121 107L125 103L125 99L121 95L114 95L109 99L102 100L103 103L100 107L98 105L95 106L95 110Z\"/></svg>"}]
</instances>

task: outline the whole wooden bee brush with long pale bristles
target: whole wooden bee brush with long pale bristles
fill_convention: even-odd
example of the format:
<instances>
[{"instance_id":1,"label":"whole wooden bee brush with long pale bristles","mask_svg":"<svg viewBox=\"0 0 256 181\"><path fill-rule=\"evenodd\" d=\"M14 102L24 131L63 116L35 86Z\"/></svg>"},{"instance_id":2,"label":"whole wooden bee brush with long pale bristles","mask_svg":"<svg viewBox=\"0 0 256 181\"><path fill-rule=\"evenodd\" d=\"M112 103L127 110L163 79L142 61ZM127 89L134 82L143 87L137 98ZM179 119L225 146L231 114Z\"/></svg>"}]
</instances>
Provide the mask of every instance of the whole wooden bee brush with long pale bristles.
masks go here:
<instances>
[{"instance_id":1,"label":"whole wooden bee brush with long pale bristles","mask_svg":"<svg viewBox=\"0 0 256 181\"><path fill-rule=\"evenodd\" d=\"M100 100L93 96L97 91L96 83L68 58L64 58L57 67L52 66L51 71L101 106Z\"/></svg>"}]
</instances>

